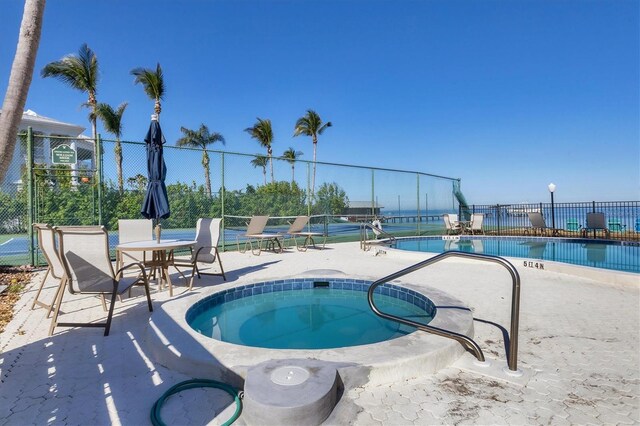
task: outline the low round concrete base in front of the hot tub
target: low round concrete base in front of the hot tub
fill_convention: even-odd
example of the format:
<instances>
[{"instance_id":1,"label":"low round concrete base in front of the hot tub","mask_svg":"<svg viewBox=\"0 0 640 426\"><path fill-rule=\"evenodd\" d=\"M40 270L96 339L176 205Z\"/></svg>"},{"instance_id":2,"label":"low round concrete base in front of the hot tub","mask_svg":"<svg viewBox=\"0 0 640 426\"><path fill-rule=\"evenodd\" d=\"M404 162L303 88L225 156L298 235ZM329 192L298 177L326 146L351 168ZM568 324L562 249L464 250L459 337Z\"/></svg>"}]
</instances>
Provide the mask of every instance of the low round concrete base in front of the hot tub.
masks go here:
<instances>
[{"instance_id":1,"label":"low round concrete base in front of the hot tub","mask_svg":"<svg viewBox=\"0 0 640 426\"><path fill-rule=\"evenodd\" d=\"M247 372L242 418L248 425L319 425L337 400L338 371L313 359L266 361Z\"/></svg>"}]
</instances>

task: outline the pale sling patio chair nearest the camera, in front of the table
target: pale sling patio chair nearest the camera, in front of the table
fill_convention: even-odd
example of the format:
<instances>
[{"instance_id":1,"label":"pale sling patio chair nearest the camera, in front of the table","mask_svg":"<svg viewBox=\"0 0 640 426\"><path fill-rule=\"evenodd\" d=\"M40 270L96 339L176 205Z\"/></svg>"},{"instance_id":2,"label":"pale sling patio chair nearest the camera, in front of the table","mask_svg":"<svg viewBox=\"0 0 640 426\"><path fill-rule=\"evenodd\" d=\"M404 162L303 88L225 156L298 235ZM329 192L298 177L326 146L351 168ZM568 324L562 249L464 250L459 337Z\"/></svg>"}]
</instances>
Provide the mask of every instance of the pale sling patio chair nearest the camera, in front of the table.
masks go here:
<instances>
[{"instance_id":1,"label":"pale sling patio chair nearest the camera, in front of the table","mask_svg":"<svg viewBox=\"0 0 640 426\"><path fill-rule=\"evenodd\" d=\"M104 226L57 227L54 229L58 235L58 254L64 267L66 279L55 302L55 310L49 328L50 336L56 327L104 327L104 335L108 336L116 297L134 285L144 286L149 311L153 311L149 282L144 266L141 263L132 263L114 272L109 255L109 235ZM134 267L140 269L139 275L123 276L126 269ZM106 309L104 295L110 294L111 304L106 322L58 322L65 287L70 294L101 295L103 309Z\"/></svg>"}]
</instances>

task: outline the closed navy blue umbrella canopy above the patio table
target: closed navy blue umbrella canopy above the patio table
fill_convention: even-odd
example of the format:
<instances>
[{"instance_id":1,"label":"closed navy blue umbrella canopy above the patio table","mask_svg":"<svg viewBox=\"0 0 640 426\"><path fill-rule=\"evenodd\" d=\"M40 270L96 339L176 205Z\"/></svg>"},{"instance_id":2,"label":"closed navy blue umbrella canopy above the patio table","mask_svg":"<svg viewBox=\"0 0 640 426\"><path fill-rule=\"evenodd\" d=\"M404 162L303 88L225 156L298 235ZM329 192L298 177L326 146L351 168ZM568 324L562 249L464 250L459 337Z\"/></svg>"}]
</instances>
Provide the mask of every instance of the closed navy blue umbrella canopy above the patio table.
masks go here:
<instances>
[{"instance_id":1,"label":"closed navy blue umbrella canopy above the patio table","mask_svg":"<svg viewBox=\"0 0 640 426\"><path fill-rule=\"evenodd\" d=\"M164 164L162 145L165 140L162 136L160 123L155 116L151 117L151 126L144 138L147 144L147 173L149 185L142 202L140 213L147 219L165 219L169 217L169 199L164 179L167 175L167 166Z\"/></svg>"}]
</instances>

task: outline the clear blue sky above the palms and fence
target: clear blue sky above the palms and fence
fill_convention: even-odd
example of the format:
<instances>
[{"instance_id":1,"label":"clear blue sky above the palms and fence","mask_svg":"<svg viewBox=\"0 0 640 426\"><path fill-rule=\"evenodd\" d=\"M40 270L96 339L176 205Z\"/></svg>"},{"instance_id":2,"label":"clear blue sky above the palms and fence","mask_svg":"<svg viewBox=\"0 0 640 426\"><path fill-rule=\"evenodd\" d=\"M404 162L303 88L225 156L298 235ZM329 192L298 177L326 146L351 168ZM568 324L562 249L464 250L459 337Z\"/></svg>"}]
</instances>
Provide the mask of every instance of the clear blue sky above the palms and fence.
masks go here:
<instances>
[{"instance_id":1,"label":"clear blue sky above the palms and fence","mask_svg":"<svg viewBox=\"0 0 640 426\"><path fill-rule=\"evenodd\" d=\"M22 10L0 2L2 95ZM129 102L127 140L153 109L129 71L160 62L171 144L205 123L219 148L261 152L243 131L261 117L276 154L311 159L292 133L312 108L334 124L319 161L459 177L470 203L547 201L549 182L559 202L638 200L639 16L628 0L49 0L26 108L89 128L84 95L39 76L86 42L98 100Z\"/></svg>"}]
</instances>

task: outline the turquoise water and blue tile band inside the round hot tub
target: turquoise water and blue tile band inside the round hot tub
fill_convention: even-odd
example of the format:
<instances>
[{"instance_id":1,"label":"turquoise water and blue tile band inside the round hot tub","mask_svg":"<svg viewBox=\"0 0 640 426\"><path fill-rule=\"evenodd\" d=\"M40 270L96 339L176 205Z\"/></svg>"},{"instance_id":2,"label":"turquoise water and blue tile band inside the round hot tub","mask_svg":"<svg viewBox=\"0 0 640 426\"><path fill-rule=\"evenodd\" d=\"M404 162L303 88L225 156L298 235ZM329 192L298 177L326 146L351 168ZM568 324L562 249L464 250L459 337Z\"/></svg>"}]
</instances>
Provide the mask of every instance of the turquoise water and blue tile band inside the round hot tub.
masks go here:
<instances>
[{"instance_id":1,"label":"turquoise water and blue tile band inside the round hot tub","mask_svg":"<svg viewBox=\"0 0 640 426\"><path fill-rule=\"evenodd\" d=\"M412 333L413 327L373 313L367 303L369 285L348 279L297 279L237 287L196 303L187 311L187 322L223 342L271 349L358 346ZM378 287L375 301L383 312L423 324L435 315L429 299L399 286Z\"/></svg>"}]
</instances>

